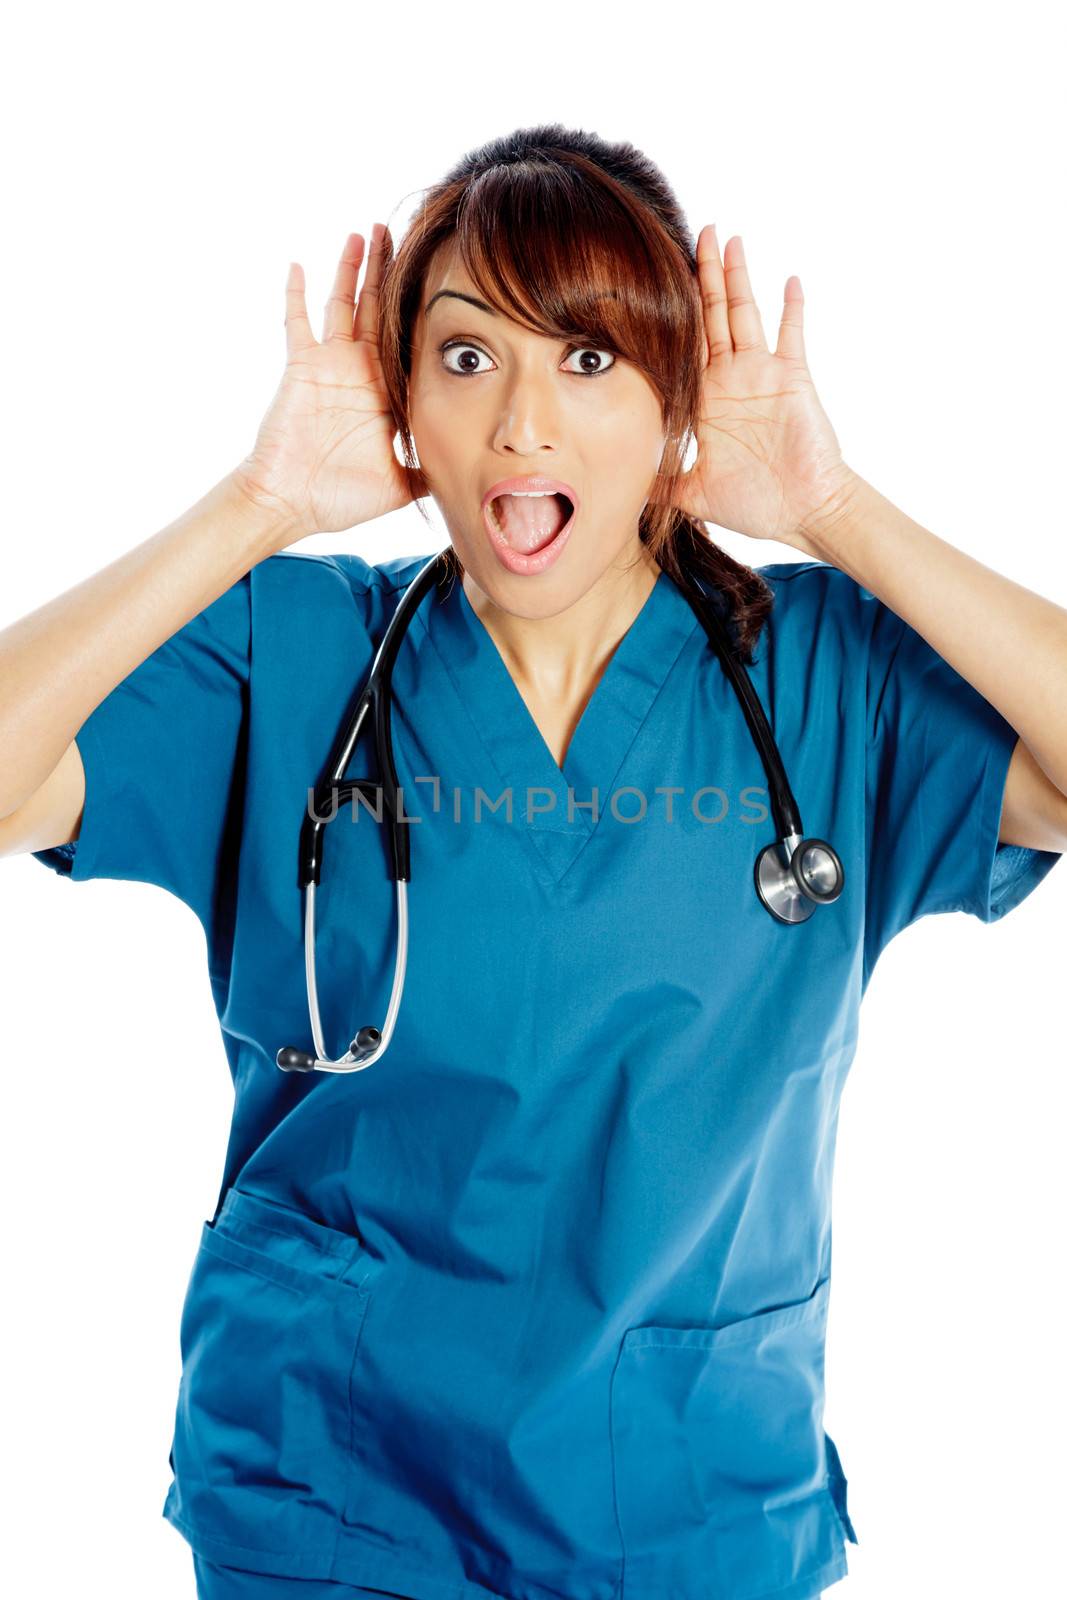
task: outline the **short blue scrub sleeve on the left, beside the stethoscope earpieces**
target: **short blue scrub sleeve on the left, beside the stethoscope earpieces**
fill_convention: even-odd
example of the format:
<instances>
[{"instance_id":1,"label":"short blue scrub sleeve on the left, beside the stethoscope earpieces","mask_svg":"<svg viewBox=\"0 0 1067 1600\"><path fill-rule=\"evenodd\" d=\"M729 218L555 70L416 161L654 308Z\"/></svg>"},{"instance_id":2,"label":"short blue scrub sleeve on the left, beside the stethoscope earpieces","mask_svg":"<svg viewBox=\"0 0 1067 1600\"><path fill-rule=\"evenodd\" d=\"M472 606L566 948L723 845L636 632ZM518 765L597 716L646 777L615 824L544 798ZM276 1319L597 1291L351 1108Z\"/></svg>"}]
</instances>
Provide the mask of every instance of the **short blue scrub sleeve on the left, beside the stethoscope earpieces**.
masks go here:
<instances>
[{"instance_id":1,"label":"short blue scrub sleeve on the left, beside the stethoscope earpieces","mask_svg":"<svg viewBox=\"0 0 1067 1600\"><path fill-rule=\"evenodd\" d=\"M35 859L75 882L155 883L192 907L211 941L237 870L250 662L245 574L85 720L78 838Z\"/></svg>"}]
</instances>

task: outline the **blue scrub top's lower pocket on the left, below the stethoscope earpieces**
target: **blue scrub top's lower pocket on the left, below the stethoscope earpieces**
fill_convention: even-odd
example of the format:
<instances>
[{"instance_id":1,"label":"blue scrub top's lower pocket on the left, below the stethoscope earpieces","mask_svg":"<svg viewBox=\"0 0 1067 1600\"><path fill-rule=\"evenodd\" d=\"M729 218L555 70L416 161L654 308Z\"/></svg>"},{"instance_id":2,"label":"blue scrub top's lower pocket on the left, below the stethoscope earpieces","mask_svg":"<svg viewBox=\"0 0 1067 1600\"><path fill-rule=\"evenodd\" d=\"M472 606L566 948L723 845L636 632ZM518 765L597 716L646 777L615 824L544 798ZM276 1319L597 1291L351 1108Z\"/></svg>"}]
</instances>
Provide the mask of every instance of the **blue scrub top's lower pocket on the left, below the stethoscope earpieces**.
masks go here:
<instances>
[{"instance_id":1,"label":"blue scrub top's lower pocket on the left, below the stethoscope earpieces","mask_svg":"<svg viewBox=\"0 0 1067 1600\"><path fill-rule=\"evenodd\" d=\"M163 1507L194 1549L330 1574L352 1371L382 1266L355 1235L235 1189L203 1224Z\"/></svg>"}]
</instances>

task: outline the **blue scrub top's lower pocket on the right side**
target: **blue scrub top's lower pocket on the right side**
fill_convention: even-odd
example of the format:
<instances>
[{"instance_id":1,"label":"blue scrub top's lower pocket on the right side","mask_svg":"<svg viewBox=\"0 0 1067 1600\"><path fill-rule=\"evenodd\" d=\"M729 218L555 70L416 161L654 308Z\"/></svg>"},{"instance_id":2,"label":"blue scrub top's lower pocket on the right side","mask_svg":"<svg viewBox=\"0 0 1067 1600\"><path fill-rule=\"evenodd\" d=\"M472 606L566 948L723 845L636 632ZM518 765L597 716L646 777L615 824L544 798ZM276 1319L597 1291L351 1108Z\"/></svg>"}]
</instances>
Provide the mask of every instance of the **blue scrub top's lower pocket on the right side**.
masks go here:
<instances>
[{"instance_id":1,"label":"blue scrub top's lower pocket on the right side","mask_svg":"<svg viewBox=\"0 0 1067 1600\"><path fill-rule=\"evenodd\" d=\"M845 1576L822 1429L830 1280L723 1328L629 1328L611 1379L622 1594L757 1600Z\"/></svg>"}]
</instances>

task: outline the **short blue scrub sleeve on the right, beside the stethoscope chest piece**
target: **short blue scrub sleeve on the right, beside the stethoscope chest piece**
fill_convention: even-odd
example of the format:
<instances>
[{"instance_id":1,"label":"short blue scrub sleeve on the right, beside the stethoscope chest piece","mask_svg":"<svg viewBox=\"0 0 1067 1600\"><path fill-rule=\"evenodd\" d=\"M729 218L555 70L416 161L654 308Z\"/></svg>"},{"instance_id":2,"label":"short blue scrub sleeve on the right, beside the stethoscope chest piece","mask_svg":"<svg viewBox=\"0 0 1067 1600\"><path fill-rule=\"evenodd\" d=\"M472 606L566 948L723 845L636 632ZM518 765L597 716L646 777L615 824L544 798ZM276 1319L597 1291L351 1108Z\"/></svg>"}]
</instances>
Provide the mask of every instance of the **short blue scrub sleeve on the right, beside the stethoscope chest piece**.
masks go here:
<instances>
[{"instance_id":1,"label":"short blue scrub sleeve on the right, beside the stethoscope chest piece","mask_svg":"<svg viewBox=\"0 0 1067 1600\"><path fill-rule=\"evenodd\" d=\"M861 590L867 662L865 971L902 928L936 912L995 922L1059 853L1000 845L1019 734L913 627Z\"/></svg>"}]
</instances>

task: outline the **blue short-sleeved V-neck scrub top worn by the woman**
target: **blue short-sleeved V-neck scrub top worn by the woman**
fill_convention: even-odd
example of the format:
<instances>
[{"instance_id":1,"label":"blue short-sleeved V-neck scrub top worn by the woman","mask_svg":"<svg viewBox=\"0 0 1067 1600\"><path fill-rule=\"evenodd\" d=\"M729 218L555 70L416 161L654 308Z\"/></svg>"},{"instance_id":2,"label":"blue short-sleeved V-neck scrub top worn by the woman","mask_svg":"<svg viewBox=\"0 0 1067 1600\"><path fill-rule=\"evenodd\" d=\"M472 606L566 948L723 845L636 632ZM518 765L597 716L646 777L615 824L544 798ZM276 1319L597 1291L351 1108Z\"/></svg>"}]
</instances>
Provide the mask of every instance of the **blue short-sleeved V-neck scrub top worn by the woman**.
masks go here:
<instances>
[{"instance_id":1,"label":"blue short-sleeved V-neck scrub top worn by the woman","mask_svg":"<svg viewBox=\"0 0 1067 1600\"><path fill-rule=\"evenodd\" d=\"M235 1085L163 1515L211 1562L419 1600L809 1600L854 1539L822 1410L859 1003L909 923L993 922L1059 859L997 843L1016 733L845 573L758 568L752 680L846 874L784 926L766 774L665 573L561 771L461 584L432 592L394 674L397 1029L363 1072L283 1074L309 787L426 560L261 562L96 707L80 838L35 853L192 907ZM384 1021L384 845L365 810L326 829L333 1056Z\"/></svg>"}]
</instances>

